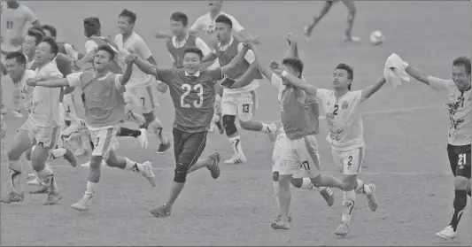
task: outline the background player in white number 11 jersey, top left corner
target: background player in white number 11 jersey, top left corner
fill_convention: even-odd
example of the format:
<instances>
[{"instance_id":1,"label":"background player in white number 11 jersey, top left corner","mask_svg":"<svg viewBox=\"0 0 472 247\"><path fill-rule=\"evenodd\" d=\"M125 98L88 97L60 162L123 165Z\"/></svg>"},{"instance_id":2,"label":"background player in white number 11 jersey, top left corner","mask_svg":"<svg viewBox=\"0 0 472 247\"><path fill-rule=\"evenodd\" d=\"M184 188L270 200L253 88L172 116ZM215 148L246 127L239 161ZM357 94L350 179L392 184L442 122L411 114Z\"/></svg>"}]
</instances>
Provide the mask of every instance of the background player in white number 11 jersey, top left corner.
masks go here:
<instances>
[{"instance_id":1,"label":"background player in white number 11 jersey, top left corner","mask_svg":"<svg viewBox=\"0 0 472 247\"><path fill-rule=\"evenodd\" d=\"M4 64L4 56L10 52L21 51L21 43L23 42L23 35L27 32L27 24L30 23L34 27L40 27L39 20L35 13L32 12L25 4L19 4L15 0L7 0L6 8L2 10L1 26L0 26L0 42L1 42L1 58L0 62ZM15 90L13 92L13 104L15 109L12 114L15 117L21 118L23 115L19 110L19 92L18 84L13 83ZM3 98L3 96L0 96ZM3 103L3 102L2 102ZM4 105L2 104L2 111Z\"/></svg>"}]
</instances>

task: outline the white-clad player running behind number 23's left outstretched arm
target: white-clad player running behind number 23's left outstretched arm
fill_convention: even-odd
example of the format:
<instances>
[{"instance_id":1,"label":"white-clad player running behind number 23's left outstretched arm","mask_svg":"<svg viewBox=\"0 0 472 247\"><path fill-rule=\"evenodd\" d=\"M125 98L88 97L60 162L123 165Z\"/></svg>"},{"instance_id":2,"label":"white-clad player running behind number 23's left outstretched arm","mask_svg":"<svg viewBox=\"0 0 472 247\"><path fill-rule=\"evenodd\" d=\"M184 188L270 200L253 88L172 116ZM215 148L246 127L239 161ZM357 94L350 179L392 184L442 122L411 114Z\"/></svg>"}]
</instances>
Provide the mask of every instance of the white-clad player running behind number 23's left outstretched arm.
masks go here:
<instances>
[{"instance_id":1,"label":"white-clad player running behind number 23's left outstretched arm","mask_svg":"<svg viewBox=\"0 0 472 247\"><path fill-rule=\"evenodd\" d=\"M151 50L143 41L140 35L134 31L137 16L135 12L130 12L124 9L118 18L118 28L120 34L116 35L114 42L123 49L136 54L139 58L150 62L157 66L156 61L152 57ZM143 73L137 67L133 70L131 78L126 87L126 96L133 100L127 100L128 112L131 111L132 106L140 109L143 117L146 120L146 126L151 127L151 130L159 140L159 147L157 153L165 153L170 148L170 141L166 135L162 133L162 123L154 115L154 100L156 99L155 89L153 86L156 81L151 75ZM159 83L159 91L166 92L166 84ZM137 102L137 105L133 105Z\"/></svg>"}]
</instances>

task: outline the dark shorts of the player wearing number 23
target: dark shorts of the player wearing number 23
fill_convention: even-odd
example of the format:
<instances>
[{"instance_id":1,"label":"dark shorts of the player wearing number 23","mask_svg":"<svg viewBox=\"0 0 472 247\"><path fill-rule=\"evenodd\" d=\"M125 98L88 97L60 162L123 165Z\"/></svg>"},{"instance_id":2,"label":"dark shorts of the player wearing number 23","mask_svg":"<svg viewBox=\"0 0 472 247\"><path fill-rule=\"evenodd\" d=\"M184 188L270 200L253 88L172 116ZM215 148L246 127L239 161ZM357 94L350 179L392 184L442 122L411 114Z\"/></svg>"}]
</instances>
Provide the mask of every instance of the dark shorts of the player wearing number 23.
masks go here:
<instances>
[{"instance_id":1,"label":"dark shorts of the player wearing number 23","mask_svg":"<svg viewBox=\"0 0 472 247\"><path fill-rule=\"evenodd\" d=\"M205 150L207 133L207 131L187 133L174 128L172 135L174 135L175 162L187 168L193 166Z\"/></svg>"}]
</instances>

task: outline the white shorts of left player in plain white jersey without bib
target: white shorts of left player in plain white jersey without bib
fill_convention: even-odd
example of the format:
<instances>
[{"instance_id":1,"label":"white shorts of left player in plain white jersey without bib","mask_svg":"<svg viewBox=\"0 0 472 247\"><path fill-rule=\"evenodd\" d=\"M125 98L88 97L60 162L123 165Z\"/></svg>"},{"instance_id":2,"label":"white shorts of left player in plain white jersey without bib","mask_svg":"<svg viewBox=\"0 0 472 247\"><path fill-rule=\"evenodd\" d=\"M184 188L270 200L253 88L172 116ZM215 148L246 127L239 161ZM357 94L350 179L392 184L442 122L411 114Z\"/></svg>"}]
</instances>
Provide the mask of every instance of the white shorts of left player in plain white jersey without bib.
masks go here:
<instances>
[{"instance_id":1,"label":"white shorts of left player in plain white jersey without bib","mask_svg":"<svg viewBox=\"0 0 472 247\"><path fill-rule=\"evenodd\" d=\"M54 149L60 137L61 127L39 127L27 120L18 131L27 131L31 145L36 143L46 149Z\"/></svg>"}]
</instances>

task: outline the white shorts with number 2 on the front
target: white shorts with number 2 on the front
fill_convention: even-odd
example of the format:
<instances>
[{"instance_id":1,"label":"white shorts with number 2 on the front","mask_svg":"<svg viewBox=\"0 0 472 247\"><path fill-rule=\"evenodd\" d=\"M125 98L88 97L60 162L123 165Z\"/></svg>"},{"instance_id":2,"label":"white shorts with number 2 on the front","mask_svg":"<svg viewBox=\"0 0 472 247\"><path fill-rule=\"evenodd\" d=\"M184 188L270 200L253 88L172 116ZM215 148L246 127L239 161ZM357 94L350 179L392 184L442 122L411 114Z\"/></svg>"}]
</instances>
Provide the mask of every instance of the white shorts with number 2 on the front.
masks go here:
<instances>
[{"instance_id":1,"label":"white shorts with number 2 on the front","mask_svg":"<svg viewBox=\"0 0 472 247\"><path fill-rule=\"evenodd\" d=\"M360 174L364 152L364 147L355 148L350 151L336 151L331 149L331 156L340 173L344 175L355 175Z\"/></svg>"}]
</instances>

